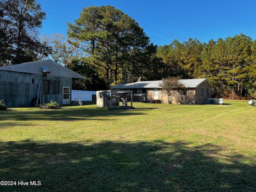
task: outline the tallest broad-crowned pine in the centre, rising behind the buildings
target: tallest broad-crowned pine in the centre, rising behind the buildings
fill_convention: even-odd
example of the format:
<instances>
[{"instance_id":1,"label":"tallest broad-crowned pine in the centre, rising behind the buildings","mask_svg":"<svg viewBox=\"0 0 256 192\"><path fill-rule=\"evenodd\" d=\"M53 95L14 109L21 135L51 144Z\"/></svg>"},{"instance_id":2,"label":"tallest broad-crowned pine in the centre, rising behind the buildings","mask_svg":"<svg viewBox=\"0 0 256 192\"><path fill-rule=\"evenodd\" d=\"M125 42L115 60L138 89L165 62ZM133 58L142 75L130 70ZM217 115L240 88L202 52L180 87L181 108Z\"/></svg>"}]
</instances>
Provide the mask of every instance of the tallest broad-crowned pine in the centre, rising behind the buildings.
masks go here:
<instances>
[{"instance_id":1,"label":"tallest broad-crowned pine in the centre, rising behind the buildings","mask_svg":"<svg viewBox=\"0 0 256 192\"><path fill-rule=\"evenodd\" d=\"M84 8L74 24L68 23L67 32L87 44L90 62L108 86L129 76L130 67L149 44L138 23L113 6Z\"/></svg>"}]
</instances>

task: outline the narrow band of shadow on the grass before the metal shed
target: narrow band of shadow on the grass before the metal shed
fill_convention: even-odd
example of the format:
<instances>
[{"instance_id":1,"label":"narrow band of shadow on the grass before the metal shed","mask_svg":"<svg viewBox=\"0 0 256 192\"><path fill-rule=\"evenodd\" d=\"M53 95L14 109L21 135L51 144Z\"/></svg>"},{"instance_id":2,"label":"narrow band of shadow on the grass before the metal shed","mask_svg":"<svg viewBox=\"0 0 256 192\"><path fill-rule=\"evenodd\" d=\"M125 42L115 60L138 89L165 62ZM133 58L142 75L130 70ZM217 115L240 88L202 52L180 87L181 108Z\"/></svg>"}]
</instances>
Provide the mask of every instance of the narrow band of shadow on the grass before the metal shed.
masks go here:
<instances>
[{"instance_id":1,"label":"narrow band of shadow on the grass before the metal shed","mask_svg":"<svg viewBox=\"0 0 256 192\"><path fill-rule=\"evenodd\" d=\"M57 110L28 109L7 110L0 112L1 120L30 121L30 120L108 120L108 116L144 115L141 110L108 110L105 108L85 108L72 106ZM113 120L113 119L111 119Z\"/></svg>"}]
</instances>

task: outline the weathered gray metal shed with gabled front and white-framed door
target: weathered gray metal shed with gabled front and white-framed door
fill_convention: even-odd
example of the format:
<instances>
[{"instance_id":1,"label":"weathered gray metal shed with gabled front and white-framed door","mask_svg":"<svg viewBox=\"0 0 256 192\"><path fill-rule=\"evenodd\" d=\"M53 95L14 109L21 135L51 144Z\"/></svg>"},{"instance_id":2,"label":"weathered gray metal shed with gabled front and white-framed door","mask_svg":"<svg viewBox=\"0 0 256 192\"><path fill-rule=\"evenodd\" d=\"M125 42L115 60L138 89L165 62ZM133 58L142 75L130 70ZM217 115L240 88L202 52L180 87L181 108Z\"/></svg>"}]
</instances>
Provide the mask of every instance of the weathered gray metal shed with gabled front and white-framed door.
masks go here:
<instances>
[{"instance_id":1,"label":"weathered gray metal shed with gabled front and white-framed door","mask_svg":"<svg viewBox=\"0 0 256 192\"><path fill-rule=\"evenodd\" d=\"M0 68L0 100L7 106L56 101L71 103L72 79L84 76L52 61L41 60Z\"/></svg>"}]
</instances>

